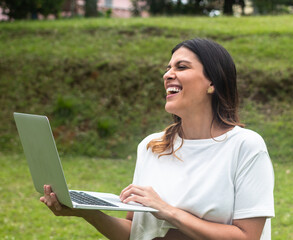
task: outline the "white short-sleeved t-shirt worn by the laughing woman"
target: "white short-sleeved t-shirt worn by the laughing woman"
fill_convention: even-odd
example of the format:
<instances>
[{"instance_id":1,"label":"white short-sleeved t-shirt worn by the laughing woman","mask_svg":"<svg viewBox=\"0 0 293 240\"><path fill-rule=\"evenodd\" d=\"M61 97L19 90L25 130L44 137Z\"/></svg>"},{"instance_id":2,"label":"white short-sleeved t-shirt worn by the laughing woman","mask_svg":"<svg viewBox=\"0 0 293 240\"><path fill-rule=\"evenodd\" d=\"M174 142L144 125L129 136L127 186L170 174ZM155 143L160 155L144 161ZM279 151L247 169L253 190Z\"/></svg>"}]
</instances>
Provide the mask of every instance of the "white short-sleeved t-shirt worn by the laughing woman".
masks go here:
<instances>
[{"instance_id":1,"label":"white short-sleeved t-shirt worn by the laughing woman","mask_svg":"<svg viewBox=\"0 0 293 240\"><path fill-rule=\"evenodd\" d=\"M274 173L260 135L236 126L215 139L184 139L176 152L180 161L147 150L147 144L163 134L152 134L139 144L133 184L152 186L165 202L212 222L268 217L261 239L271 239ZM174 149L181 141L177 136ZM151 213L135 212L130 239L164 237L170 228L175 227Z\"/></svg>"}]
</instances>

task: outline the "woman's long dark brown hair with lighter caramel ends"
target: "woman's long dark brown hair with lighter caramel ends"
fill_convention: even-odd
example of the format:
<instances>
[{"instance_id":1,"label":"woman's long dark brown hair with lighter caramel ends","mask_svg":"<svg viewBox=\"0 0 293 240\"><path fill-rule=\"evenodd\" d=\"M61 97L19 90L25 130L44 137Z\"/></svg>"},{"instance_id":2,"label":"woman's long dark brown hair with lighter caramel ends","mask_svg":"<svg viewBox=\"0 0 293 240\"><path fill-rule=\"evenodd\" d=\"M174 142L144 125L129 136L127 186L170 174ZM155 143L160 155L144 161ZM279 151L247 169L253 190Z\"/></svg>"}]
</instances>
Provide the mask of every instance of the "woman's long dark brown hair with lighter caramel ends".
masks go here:
<instances>
[{"instance_id":1,"label":"woman's long dark brown hair with lighter caramel ends","mask_svg":"<svg viewBox=\"0 0 293 240\"><path fill-rule=\"evenodd\" d=\"M228 51L220 44L202 38L186 40L176 45L172 54L179 48L185 47L192 51L203 65L204 75L214 86L212 94L213 121L223 128L244 125L240 123L238 116L238 91L237 73L234 61ZM165 133L160 139L153 139L147 145L154 153L163 155L173 154L174 139L176 134L182 137L181 118L174 115L174 123L165 129ZM211 136L213 137L213 136ZM183 142L181 143L182 146ZM180 146L180 147L181 147ZM179 147L179 148L180 148ZM170 150L166 153L166 150Z\"/></svg>"}]
</instances>

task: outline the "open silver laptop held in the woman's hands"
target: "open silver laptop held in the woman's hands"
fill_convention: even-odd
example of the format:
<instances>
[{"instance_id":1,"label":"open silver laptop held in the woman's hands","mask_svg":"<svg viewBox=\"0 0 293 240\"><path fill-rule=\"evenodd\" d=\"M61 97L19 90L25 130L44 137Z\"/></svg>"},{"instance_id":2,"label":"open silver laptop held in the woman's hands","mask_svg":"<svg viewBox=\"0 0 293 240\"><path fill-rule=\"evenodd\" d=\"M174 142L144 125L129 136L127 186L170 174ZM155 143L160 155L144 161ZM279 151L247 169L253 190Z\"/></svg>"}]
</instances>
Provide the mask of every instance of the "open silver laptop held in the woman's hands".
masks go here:
<instances>
[{"instance_id":1,"label":"open silver laptop held in the woman's hands","mask_svg":"<svg viewBox=\"0 0 293 240\"><path fill-rule=\"evenodd\" d=\"M119 196L112 193L69 190L48 118L40 115L14 113L14 119L35 189L39 193L44 193L44 185L51 185L58 200L70 208L157 211L135 202L122 203Z\"/></svg>"}]
</instances>

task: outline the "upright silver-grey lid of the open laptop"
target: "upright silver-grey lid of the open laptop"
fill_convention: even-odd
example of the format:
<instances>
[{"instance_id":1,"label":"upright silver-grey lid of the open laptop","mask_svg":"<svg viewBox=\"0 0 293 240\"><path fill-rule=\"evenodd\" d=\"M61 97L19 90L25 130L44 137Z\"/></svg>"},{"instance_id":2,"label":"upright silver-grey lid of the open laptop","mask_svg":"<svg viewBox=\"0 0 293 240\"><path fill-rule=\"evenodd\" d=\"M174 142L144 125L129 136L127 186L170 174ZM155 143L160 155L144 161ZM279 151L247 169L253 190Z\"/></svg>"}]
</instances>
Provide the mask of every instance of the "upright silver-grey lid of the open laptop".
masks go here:
<instances>
[{"instance_id":1,"label":"upright silver-grey lid of the open laptop","mask_svg":"<svg viewBox=\"0 0 293 240\"><path fill-rule=\"evenodd\" d=\"M59 154L49 120L46 116L14 113L35 189L44 193L44 185L51 185L58 200L72 207Z\"/></svg>"}]
</instances>

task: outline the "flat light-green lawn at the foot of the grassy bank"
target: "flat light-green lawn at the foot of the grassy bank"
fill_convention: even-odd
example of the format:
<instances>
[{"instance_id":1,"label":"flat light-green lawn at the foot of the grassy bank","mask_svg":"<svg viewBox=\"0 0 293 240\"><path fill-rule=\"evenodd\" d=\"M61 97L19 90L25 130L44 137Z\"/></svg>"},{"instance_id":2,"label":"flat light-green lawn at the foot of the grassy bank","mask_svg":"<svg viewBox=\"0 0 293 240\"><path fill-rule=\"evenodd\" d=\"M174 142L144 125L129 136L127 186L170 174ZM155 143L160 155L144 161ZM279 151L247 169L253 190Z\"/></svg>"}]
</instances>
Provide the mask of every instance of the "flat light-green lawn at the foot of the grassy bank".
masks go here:
<instances>
[{"instance_id":1,"label":"flat light-green lawn at the foot of the grassy bank","mask_svg":"<svg viewBox=\"0 0 293 240\"><path fill-rule=\"evenodd\" d=\"M135 158L113 160L87 157L62 159L69 188L119 194L132 180ZM23 155L0 156L1 239L106 239L82 219L55 217L38 201ZM293 167L274 163L275 211L272 239L293 239ZM125 212L107 212L125 217Z\"/></svg>"}]
</instances>

